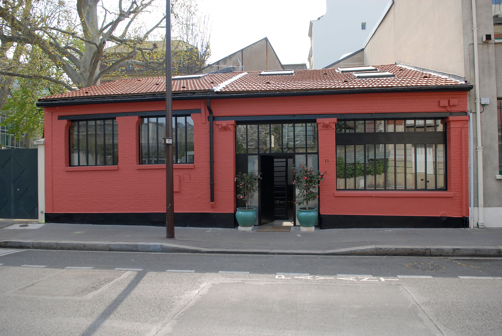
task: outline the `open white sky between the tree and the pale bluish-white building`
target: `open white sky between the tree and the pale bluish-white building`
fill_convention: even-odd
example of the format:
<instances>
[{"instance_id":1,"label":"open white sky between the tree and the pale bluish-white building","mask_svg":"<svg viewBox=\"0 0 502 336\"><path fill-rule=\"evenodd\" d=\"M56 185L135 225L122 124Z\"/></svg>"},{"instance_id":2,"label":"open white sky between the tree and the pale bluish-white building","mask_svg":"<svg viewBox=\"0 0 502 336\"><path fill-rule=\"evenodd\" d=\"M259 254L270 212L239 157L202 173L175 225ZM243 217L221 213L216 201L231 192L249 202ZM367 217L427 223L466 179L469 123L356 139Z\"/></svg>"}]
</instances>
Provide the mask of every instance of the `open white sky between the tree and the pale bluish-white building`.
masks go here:
<instances>
[{"instance_id":1,"label":"open white sky between the tree and the pale bluish-white building","mask_svg":"<svg viewBox=\"0 0 502 336\"><path fill-rule=\"evenodd\" d=\"M326 13L326 0L197 0L209 14L211 58L218 61L268 37L281 63L306 63L311 20Z\"/></svg>"}]
</instances>

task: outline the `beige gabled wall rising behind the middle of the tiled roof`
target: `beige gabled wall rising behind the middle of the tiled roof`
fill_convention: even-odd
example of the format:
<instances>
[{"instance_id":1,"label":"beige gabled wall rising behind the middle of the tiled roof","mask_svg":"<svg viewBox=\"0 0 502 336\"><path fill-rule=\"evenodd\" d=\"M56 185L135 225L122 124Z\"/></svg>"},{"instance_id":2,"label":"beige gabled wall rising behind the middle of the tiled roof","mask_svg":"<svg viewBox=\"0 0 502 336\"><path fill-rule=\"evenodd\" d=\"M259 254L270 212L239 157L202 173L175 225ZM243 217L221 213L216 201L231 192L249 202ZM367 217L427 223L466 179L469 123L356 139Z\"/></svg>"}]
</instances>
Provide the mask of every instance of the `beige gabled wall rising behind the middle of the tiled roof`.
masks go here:
<instances>
[{"instance_id":1,"label":"beige gabled wall rising behind the middle of the tiled roof","mask_svg":"<svg viewBox=\"0 0 502 336\"><path fill-rule=\"evenodd\" d=\"M219 67L221 65L221 67ZM201 69L198 73L212 72L227 66L237 67L238 71L262 71L284 69L269 39L264 38L227 57ZM238 67L242 67L239 69Z\"/></svg>"}]
</instances>

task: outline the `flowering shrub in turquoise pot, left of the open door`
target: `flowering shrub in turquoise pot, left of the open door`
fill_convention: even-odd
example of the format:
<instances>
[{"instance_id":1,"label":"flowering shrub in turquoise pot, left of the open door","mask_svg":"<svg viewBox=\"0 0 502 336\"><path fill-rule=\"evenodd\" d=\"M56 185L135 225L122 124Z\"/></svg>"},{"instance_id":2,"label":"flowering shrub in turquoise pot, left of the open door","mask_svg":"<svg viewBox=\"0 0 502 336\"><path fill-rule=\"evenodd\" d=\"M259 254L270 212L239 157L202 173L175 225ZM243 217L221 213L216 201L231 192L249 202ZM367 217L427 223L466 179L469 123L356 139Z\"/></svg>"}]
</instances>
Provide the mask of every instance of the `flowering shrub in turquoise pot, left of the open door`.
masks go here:
<instances>
[{"instance_id":1,"label":"flowering shrub in turquoise pot, left of the open door","mask_svg":"<svg viewBox=\"0 0 502 336\"><path fill-rule=\"evenodd\" d=\"M253 196L258 190L258 180L260 179L260 174L256 174L255 171L238 173L235 178L237 188L240 191L237 194L237 200L242 200L246 204L245 208L237 208L235 212L239 230L253 230L253 224L256 219L256 208L249 207L249 204L253 201Z\"/></svg>"}]
</instances>

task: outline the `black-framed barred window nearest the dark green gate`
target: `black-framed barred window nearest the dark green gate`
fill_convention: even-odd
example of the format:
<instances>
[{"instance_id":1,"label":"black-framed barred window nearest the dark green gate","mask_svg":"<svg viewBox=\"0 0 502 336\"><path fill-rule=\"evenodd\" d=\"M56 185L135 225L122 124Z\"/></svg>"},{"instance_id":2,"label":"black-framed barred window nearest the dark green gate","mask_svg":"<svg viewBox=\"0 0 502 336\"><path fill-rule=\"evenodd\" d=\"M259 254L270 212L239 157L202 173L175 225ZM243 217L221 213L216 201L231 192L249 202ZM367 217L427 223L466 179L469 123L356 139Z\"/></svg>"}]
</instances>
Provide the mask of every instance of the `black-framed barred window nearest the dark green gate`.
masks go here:
<instances>
[{"instance_id":1,"label":"black-framed barred window nearest the dark green gate","mask_svg":"<svg viewBox=\"0 0 502 336\"><path fill-rule=\"evenodd\" d=\"M118 125L115 119L72 121L69 165L118 164Z\"/></svg>"}]
</instances>

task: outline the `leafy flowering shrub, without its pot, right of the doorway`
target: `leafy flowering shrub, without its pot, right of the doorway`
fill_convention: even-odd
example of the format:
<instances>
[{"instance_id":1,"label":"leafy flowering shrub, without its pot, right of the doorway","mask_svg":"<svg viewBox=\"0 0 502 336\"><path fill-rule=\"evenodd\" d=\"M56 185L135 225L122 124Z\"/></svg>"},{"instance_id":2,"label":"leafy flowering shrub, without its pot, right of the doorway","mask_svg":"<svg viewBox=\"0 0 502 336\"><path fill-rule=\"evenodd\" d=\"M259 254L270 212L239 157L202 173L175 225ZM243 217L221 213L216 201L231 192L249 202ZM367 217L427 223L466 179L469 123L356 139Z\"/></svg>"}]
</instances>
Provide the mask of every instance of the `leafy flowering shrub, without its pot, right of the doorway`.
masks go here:
<instances>
[{"instance_id":1,"label":"leafy flowering shrub, without its pot, right of the doorway","mask_svg":"<svg viewBox=\"0 0 502 336\"><path fill-rule=\"evenodd\" d=\"M314 173L312 168L309 169L304 163L300 164L300 168L296 169L295 165L293 170L293 184L298 188L298 196L296 204L302 205L305 203L307 210L309 209L309 201L314 201L319 198L318 189L321 181L324 181L324 174L327 172Z\"/></svg>"}]
</instances>

